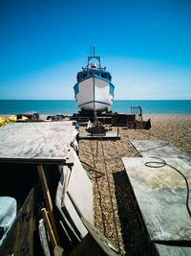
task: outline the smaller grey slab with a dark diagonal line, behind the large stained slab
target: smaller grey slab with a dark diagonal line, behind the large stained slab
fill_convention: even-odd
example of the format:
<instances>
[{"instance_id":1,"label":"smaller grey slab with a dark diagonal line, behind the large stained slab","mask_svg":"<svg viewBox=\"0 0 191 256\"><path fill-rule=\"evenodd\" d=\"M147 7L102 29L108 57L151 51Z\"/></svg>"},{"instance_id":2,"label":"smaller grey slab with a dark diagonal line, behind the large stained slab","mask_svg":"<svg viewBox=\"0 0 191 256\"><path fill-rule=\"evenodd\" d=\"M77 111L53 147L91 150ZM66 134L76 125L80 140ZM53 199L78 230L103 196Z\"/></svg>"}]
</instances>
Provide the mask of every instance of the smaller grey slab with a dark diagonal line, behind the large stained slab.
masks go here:
<instances>
[{"instance_id":1,"label":"smaller grey slab with a dark diagonal line, behind the large stained slab","mask_svg":"<svg viewBox=\"0 0 191 256\"><path fill-rule=\"evenodd\" d=\"M138 152L142 157L158 156L158 157L177 157L185 159L191 163L191 157L186 155L183 151L169 145L165 141L155 140L130 140L130 146Z\"/></svg>"}]
</instances>

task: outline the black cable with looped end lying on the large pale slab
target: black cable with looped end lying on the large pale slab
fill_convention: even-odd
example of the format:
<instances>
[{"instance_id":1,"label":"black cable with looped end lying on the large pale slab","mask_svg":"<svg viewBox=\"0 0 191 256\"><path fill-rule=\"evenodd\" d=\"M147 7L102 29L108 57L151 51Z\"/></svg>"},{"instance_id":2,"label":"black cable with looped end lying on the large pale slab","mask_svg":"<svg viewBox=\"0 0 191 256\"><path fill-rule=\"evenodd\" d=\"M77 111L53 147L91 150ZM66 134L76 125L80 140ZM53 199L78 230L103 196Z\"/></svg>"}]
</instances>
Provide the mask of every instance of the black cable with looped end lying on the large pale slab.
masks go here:
<instances>
[{"instance_id":1,"label":"black cable with looped end lying on the large pale slab","mask_svg":"<svg viewBox=\"0 0 191 256\"><path fill-rule=\"evenodd\" d=\"M153 156L152 158L156 158L156 159L159 159L160 162L157 162L157 161L149 161L149 162L146 162L145 163L145 166L147 167L150 167L150 168L160 168L160 167L164 167L164 166L168 166L170 168L172 168L173 170L175 170L176 172L178 172L185 180L185 184L186 184L186 189L187 189L187 196L186 196L186 208L187 208L187 212L191 218L191 211L190 211L190 208L189 208L189 193L190 193L190 190L189 190L189 184L188 184L188 181L187 181L187 178L185 175L183 175L177 168L175 168L174 166L170 165L170 164L167 164L162 158L159 158L159 157L155 157Z\"/></svg>"}]
</instances>

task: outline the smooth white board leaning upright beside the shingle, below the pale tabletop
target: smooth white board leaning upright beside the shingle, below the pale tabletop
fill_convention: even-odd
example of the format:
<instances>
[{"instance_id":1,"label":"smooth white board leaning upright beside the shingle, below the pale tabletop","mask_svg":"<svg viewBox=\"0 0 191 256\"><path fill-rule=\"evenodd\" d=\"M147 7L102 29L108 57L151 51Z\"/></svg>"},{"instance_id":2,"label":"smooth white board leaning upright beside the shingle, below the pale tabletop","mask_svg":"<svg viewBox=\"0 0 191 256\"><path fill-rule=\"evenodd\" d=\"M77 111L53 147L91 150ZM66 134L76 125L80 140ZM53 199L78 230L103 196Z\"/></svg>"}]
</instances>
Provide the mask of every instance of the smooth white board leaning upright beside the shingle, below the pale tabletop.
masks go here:
<instances>
[{"instance_id":1,"label":"smooth white board leaning upright beside the shingle, below the pale tabletop","mask_svg":"<svg viewBox=\"0 0 191 256\"><path fill-rule=\"evenodd\" d=\"M67 193L72 199L79 215L85 220L94 223L93 184L86 175L75 152L74 167L69 180Z\"/></svg>"}]
</instances>

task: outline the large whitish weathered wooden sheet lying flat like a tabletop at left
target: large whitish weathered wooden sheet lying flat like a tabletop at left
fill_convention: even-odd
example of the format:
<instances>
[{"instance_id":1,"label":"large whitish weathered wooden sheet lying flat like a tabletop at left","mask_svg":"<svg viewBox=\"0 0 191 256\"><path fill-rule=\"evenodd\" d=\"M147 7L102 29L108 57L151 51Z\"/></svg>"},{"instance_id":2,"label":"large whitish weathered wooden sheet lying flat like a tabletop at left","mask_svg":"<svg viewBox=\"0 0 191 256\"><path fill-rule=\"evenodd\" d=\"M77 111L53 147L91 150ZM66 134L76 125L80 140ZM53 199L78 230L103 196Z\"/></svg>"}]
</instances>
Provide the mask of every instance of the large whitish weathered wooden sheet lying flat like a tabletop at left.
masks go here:
<instances>
[{"instance_id":1,"label":"large whitish weathered wooden sheet lying flat like a tabletop at left","mask_svg":"<svg viewBox=\"0 0 191 256\"><path fill-rule=\"evenodd\" d=\"M0 128L0 162L63 163L76 135L72 122L9 124Z\"/></svg>"}]
</instances>

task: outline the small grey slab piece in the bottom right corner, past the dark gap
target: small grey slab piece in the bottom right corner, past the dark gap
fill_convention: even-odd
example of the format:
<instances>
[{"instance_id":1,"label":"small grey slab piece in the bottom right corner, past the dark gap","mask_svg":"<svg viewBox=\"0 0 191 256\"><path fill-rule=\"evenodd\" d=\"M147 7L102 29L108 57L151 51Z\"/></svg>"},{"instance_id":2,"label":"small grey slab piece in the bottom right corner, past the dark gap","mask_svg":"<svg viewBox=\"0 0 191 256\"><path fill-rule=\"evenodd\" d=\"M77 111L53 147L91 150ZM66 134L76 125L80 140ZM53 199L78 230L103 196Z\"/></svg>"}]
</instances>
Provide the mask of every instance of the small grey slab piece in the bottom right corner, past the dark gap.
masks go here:
<instances>
[{"instance_id":1,"label":"small grey slab piece in the bottom right corner, past the dark gap","mask_svg":"<svg viewBox=\"0 0 191 256\"><path fill-rule=\"evenodd\" d=\"M190 256L191 247L171 246L164 244L155 244L159 256Z\"/></svg>"}]
</instances>

